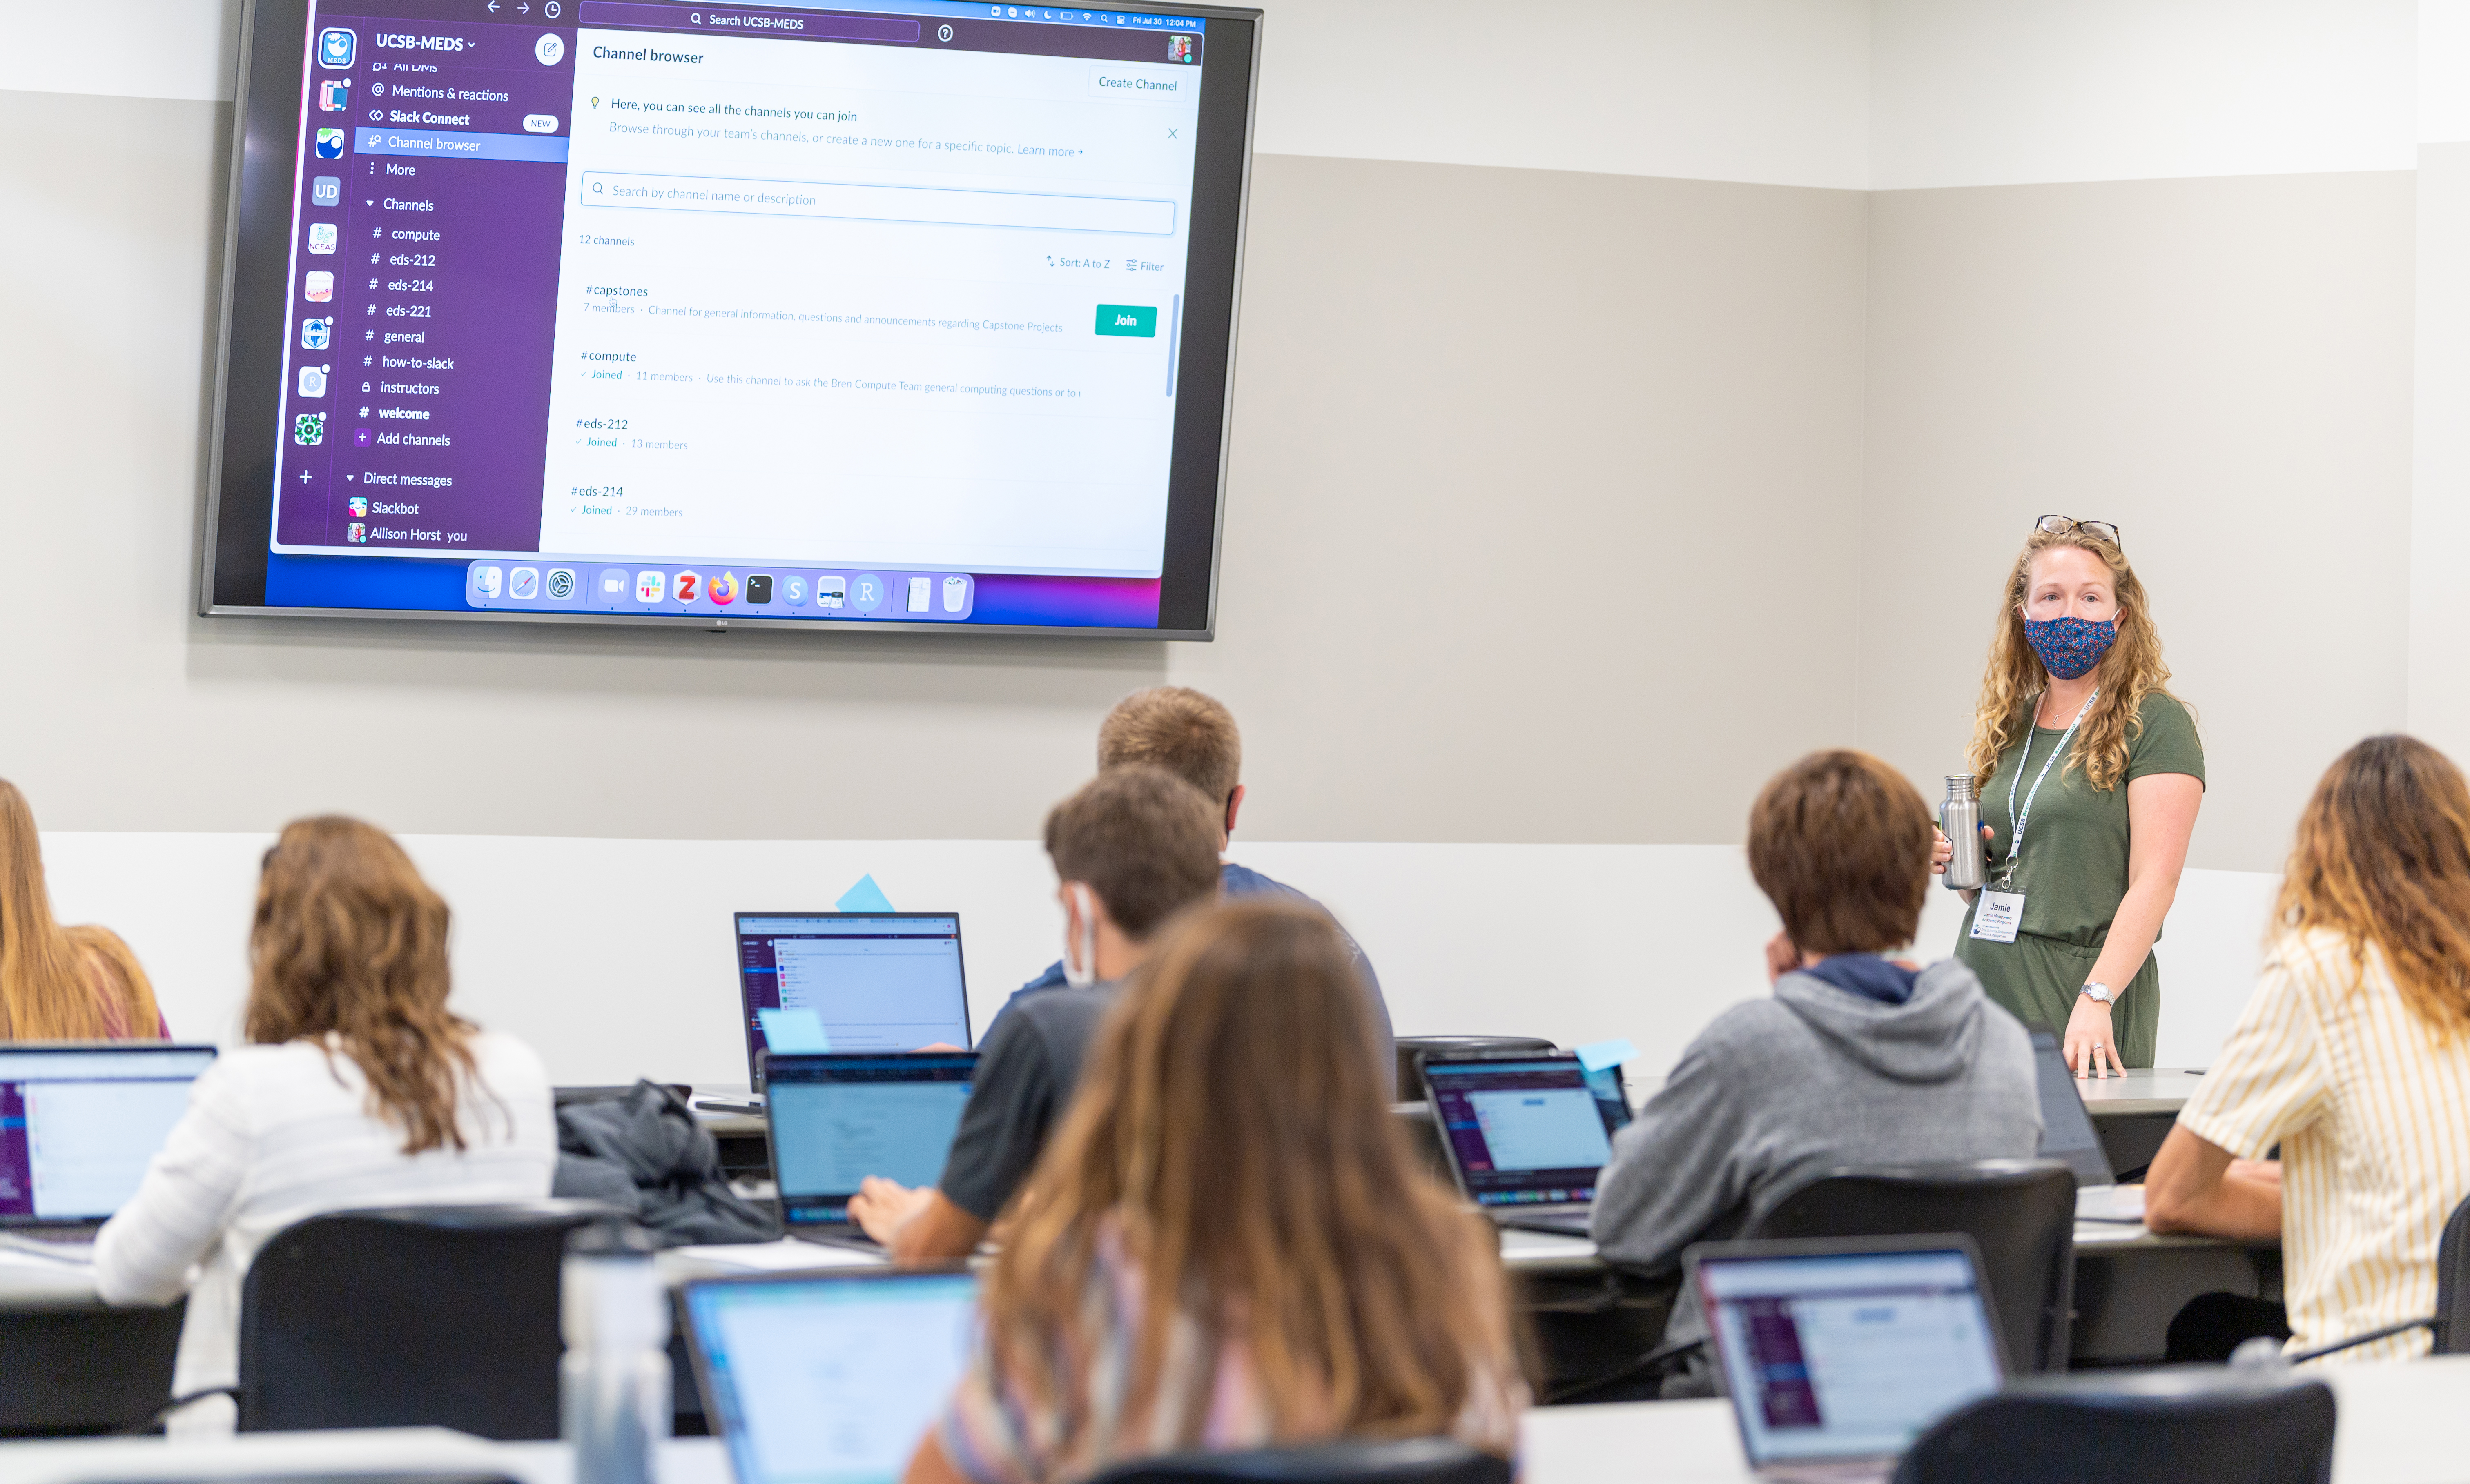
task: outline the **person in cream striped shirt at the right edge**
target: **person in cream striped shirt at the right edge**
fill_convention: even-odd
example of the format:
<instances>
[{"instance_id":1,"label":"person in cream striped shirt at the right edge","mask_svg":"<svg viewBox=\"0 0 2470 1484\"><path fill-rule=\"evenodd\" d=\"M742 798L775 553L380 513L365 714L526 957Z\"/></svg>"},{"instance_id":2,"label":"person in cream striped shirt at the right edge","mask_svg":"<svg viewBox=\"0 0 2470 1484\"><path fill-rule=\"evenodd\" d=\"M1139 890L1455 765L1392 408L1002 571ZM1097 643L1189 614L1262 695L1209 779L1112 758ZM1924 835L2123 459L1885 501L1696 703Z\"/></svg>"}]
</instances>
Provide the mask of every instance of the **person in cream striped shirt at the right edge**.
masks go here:
<instances>
[{"instance_id":1,"label":"person in cream striped shirt at the right edge","mask_svg":"<svg viewBox=\"0 0 2470 1484\"><path fill-rule=\"evenodd\" d=\"M2290 1346L2435 1311L2470 1195L2470 785L2374 736L2317 783L2265 975L2144 1188L2156 1232L2282 1240ZM2282 1158L2265 1163L2280 1143ZM2423 1356L2408 1331L2339 1361Z\"/></svg>"}]
</instances>

